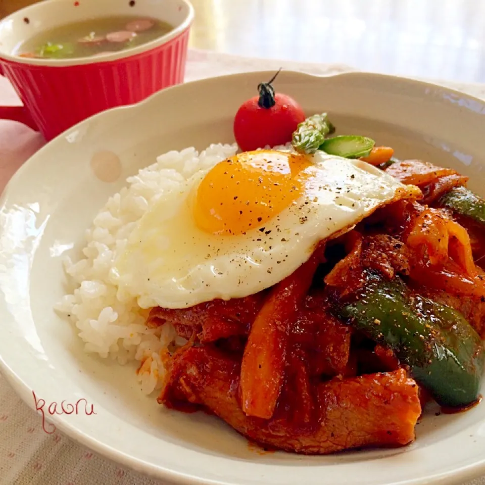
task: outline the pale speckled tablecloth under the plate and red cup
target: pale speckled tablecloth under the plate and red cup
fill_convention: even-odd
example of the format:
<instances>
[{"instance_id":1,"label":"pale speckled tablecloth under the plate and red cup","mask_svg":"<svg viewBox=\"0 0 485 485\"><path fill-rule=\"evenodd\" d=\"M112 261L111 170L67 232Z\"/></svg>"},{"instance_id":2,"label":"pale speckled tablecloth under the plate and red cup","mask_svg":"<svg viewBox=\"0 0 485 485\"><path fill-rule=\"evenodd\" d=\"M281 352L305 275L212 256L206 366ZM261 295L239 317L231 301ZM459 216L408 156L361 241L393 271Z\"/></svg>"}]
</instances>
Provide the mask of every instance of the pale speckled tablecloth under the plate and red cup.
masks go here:
<instances>
[{"instance_id":1,"label":"pale speckled tablecloth under the plate and red cup","mask_svg":"<svg viewBox=\"0 0 485 485\"><path fill-rule=\"evenodd\" d=\"M315 65L245 59L191 51L186 80L283 66L315 74L351 70L343 65ZM483 84L434 82L485 98ZM15 93L0 77L0 104L17 104ZM43 144L39 134L17 123L0 121L0 190L20 165ZM56 431L46 434L41 418L27 407L0 375L0 485L163 485L91 453ZM297 484L295 484L297 485ZM299 485L299 484L298 484ZM461 484L457 484L461 485ZM485 477L467 485L485 485Z\"/></svg>"}]
</instances>

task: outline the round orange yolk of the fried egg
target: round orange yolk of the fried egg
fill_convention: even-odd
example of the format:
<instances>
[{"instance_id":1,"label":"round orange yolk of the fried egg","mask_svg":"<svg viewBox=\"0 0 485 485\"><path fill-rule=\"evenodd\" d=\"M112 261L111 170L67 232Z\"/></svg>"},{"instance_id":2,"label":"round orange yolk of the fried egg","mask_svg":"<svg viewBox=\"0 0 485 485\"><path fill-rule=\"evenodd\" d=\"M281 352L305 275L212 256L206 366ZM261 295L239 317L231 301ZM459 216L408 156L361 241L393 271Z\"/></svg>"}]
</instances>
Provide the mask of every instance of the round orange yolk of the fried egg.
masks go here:
<instances>
[{"instance_id":1,"label":"round orange yolk of the fried egg","mask_svg":"<svg viewBox=\"0 0 485 485\"><path fill-rule=\"evenodd\" d=\"M245 234L302 195L306 155L259 150L217 164L197 190L197 226L213 234Z\"/></svg>"}]
</instances>

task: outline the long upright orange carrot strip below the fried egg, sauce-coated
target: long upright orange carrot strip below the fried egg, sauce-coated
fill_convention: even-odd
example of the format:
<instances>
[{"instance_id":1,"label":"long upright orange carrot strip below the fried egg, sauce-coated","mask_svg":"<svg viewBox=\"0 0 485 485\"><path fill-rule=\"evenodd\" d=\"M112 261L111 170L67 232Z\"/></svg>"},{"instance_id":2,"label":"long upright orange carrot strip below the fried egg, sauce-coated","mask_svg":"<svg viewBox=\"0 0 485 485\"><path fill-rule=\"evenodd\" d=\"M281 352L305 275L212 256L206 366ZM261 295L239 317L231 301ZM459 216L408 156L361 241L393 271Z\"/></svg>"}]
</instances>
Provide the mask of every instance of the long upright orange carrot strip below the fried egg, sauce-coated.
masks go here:
<instances>
[{"instance_id":1,"label":"long upright orange carrot strip below the fried egg, sauce-coated","mask_svg":"<svg viewBox=\"0 0 485 485\"><path fill-rule=\"evenodd\" d=\"M248 416L269 419L284 381L289 326L296 317L320 262L317 250L278 283L251 327L241 365L241 401Z\"/></svg>"}]
</instances>

